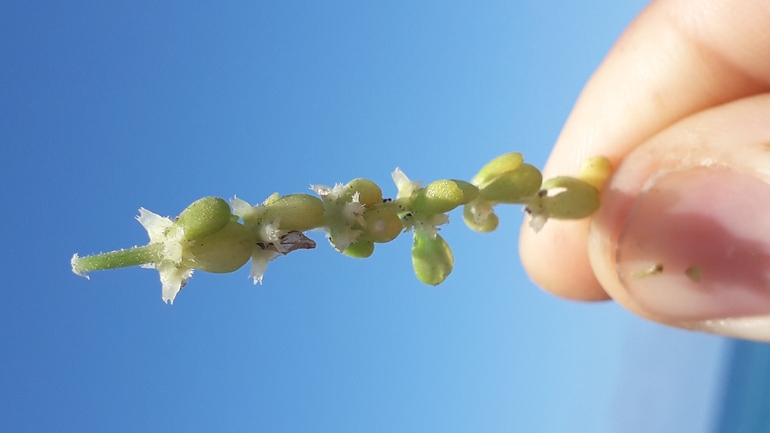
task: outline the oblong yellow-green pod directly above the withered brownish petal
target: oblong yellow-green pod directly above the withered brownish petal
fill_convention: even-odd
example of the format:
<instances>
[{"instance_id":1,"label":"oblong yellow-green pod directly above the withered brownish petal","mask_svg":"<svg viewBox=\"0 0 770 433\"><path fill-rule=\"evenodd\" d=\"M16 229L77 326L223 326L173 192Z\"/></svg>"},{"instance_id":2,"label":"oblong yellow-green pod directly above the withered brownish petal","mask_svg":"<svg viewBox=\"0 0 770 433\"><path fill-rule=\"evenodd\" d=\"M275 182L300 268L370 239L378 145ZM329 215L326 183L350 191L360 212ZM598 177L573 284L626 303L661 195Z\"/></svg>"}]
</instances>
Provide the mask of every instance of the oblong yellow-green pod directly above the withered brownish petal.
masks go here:
<instances>
[{"instance_id":1,"label":"oblong yellow-green pod directly above the withered brownish petal","mask_svg":"<svg viewBox=\"0 0 770 433\"><path fill-rule=\"evenodd\" d=\"M260 222L272 223L280 218L281 230L304 232L318 227L323 214L321 199L310 194L289 194L272 200Z\"/></svg>"}]
</instances>

